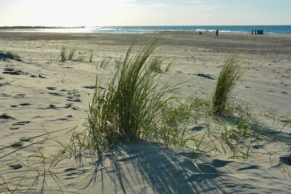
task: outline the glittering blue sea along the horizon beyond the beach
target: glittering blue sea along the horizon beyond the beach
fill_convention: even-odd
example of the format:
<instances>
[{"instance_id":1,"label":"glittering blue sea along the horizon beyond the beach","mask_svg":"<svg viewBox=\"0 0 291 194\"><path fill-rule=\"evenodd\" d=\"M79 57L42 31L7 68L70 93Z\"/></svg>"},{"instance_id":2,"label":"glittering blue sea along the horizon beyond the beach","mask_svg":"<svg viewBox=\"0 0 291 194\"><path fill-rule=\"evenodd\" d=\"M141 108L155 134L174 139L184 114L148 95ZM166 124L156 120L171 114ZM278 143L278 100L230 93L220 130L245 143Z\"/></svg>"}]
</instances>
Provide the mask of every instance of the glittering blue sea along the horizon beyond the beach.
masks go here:
<instances>
[{"instance_id":1,"label":"glittering blue sea along the horizon beyond the beach","mask_svg":"<svg viewBox=\"0 0 291 194\"><path fill-rule=\"evenodd\" d=\"M60 33L152 33L156 31L183 31L183 32L229 32L251 33L252 30L263 30L263 33L291 34L291 25L280 26L96 26L81 28L40 29L39 32Z\"/></svg>"}]
</instances>

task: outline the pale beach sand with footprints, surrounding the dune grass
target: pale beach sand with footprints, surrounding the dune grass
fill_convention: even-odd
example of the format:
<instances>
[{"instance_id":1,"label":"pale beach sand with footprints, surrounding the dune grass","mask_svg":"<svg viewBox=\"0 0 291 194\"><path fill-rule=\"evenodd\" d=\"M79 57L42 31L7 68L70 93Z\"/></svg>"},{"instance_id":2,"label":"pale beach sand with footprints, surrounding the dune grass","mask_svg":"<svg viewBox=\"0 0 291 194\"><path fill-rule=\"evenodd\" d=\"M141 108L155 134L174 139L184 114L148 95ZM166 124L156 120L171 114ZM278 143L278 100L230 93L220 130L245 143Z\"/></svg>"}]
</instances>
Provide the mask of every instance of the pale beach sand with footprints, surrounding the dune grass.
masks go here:
<instances>
[{"instance_id":1,"label":"pale beach sand with footprints, surrounding the dune grass","mask_svg":"<svg viewBox=\"0 0 291 194\"><path fill-rule=\"evenodd\" d=\"M68 131L84 123L96 75L102 76L101 85L106 87L115 72L114 60L125 54L134 38L137 45L141 45L149 35L0 30L0 50L17 53L22 59L0 55L0 84L13 81L0 87L0 113L5 113L0 118L0 147L46 131L66 128L65 131ZM246 52L244 65L248 71L235 89L238 99L254 106L275 109L278 115L290 113L291 34L220 33L219 38L214 37L214 33L171 32L171 38L155 52L155 55L162 54L167 61L173 62L172 69L163 77L171 78L172 83L184 82L179 90L184 96L198 87L211 94L226 57L235 50L242 50ZM93 62L89 63L88 57L85 59L87 62L59 62L63 47L76 48L76 56L88 56L90 49L94 49ZM103 57L108 57L111 62L100 68ZM280 122L272 122L274 118L262 119L274 129L274 133L283 127ZM65 135L65 131L53 133L50 137L66 141L69 135ZM287 125L280 136L287 144L291 144L290 131ZM28 146L32 142L35 143L31 140L18 146ZM44 188L106 194L168 194L179 193L179 189L183 194L289 193L291 178L287 169L291 164L286 162L287 144L254 143L253 158L249 160L227 159L229 156L223 153L215 156L207 153L196 161L200 172L191 162L190 148L167 149L149 142L119 144L105 153L102 159L84 157L81 167L73 159L63 160L54 168L60 174L57 178L47 176ZM37 146L49 154L60 145L44 141ZM17 159L29 156L38 152L37 146L21 149L12 155ZM0 164L7 162L5 160L0 159ZM210 164L216 170L201 164ZM7 169L9 172L17 171ZM30 181L21 184L32 186ZM37 187L41 187L42 180L38 184Z\"/></svg>"}]
</instances>

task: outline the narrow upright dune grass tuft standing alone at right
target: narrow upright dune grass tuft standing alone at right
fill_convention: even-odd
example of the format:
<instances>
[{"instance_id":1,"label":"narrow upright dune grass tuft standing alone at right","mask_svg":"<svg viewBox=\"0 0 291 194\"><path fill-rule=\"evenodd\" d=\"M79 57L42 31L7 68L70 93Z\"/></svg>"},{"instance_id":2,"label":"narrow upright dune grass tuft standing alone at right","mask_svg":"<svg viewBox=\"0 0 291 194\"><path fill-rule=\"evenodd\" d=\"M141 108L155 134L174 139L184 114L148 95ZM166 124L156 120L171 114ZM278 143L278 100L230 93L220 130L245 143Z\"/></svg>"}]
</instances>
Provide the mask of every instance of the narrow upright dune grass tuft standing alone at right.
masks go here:
<instances>
[{"instance_id":1,"label":"narrow upright dune grass tuft standing alone at right","mask_svg":"<svg viewBox=\"0 0 291 194\"><path fill-rule=\"evenodd\" d=\"M229 111L231 100L235 99L232 91L246 70L242 66L243 62L244 55L240 52L232 54L224 62L212 97L212 112L214 114L232 114Z\"/></svg>"}]
</instances>

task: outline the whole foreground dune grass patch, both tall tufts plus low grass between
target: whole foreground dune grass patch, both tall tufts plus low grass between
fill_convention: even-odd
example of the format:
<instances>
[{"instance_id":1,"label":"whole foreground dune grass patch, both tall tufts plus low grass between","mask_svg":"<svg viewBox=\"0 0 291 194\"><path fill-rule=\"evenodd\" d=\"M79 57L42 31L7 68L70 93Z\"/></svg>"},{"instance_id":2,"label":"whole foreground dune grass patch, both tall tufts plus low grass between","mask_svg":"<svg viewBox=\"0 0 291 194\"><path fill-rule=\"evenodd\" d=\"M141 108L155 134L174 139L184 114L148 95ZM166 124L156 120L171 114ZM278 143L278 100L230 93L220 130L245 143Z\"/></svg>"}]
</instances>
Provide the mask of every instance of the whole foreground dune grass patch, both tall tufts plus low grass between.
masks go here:
<instances>
[{"instance_id":1,"label":"whole foreground dune grass patch, both tall tufts plus low grass between","mask_svg":"<svg viewBox=\"0 0 291 194\"><path fill-rule=\"evenodd\" d=\"M226 59L212 98L198 87L183 99L174 94L181 83L170 86L169 81L163 80L162 74L152 68L163 61L162 57L150 56L165 39L167 37L160 34L140 49L133 43L125 58L115 61L116 73L107 88L100 85L102 78L96 80L85 129L74 132L71 147L102 153L118 138L125 137L128 142L143 139L163 143L166 147L183 148L192 144L196 149L199 145L203 150L213 150L218 148L210 144L216 141L225 153L230 149L231 157L247 159L251 152L249 139L272 139L259 122L262 114L254 113L249 104L239 102L231 94L245 70L241 53ZM105 64L106 58L102 61L101 65ZM200 141L201 137L187 131L193 122L201 121L208 126L202 139L208 137L209 142Z\"/></svg>"}]
</instances>

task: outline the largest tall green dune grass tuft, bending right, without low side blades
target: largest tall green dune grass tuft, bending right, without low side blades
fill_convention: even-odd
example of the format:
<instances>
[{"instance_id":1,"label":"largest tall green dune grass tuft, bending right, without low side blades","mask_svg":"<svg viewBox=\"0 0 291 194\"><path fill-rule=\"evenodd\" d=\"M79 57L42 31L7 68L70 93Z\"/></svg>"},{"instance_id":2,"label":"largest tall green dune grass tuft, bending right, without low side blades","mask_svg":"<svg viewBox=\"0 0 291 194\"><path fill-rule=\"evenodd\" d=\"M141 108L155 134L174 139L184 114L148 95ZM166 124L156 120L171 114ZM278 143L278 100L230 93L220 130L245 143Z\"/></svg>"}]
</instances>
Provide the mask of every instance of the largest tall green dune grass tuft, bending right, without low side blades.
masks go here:
<instances>
[{"instance_id":1,"label":"largest tall green dune grass tuft, bending right, without low side blades","mask_svg":"<svg viewBox=\"0 0 291 194\"><path fill-rule=\"evenodd\" d=\"M167 38L160 34L136 53L133 53L133 43L107 90L100 89L96 81L87 119L90 145L101 142L102 146L102 141L112 144L121 136L154 141L152 134L157 132L158 124L155 118L162 105L172 98L166 94L174 89L167 82L158 83L158 74L152 74L146 65L152 52Z\"/></svg>"}]
</instances>

